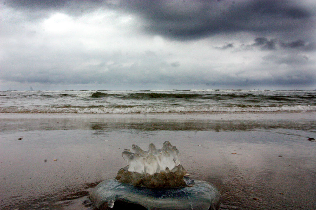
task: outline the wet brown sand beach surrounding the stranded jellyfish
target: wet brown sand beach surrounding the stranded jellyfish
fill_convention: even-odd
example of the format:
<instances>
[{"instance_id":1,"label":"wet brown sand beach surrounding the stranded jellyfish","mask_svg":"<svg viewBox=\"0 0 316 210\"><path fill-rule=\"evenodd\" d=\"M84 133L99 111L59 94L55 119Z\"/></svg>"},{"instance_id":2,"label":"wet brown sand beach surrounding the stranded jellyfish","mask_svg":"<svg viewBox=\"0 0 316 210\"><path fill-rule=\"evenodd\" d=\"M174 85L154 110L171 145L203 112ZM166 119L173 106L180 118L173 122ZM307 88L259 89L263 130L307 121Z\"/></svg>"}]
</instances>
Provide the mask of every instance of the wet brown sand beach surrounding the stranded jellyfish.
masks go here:
<instances>
[{"instance_id":1,"label":"wet brown sand beach surrounding the stranded jellyfish","mask_svg":"<svg viewBox=\"0 0 316 210\"><path fill-rule=\"evenodd\" d=\"M87 209L121 152L169 140L221 209L316 209L316 112L1 114L0 208ZM19 138L22 138L19 140ZM115 205L114 205L115 206Z\"/></svg>"}]
</instances>

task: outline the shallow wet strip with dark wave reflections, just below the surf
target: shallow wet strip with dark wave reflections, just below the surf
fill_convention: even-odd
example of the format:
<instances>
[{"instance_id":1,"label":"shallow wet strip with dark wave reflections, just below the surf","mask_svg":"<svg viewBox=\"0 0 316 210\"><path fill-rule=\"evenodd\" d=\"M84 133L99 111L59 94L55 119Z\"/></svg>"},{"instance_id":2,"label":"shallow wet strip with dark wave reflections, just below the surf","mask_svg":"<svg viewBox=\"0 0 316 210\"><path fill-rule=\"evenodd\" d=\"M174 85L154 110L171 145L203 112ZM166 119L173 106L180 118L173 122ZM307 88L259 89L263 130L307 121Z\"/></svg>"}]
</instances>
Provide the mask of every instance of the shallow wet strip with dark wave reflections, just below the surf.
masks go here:
<instances>
[{"instance_id":1,"label":"shallow wet strip with dark wave reflections, just below the surf","mask_svg":"<svg viewBox=\"0 0 316 210\"><path fill-rule=\"evenodd\" d=\"M14 119L12 122L2 123L0 131L33 131L33 130L102 130L135 129L143 131L250 131L255 129L316 129L315 121L288 121L288 120L100 120L100 119Z\"/></svg>"}]
</instances>

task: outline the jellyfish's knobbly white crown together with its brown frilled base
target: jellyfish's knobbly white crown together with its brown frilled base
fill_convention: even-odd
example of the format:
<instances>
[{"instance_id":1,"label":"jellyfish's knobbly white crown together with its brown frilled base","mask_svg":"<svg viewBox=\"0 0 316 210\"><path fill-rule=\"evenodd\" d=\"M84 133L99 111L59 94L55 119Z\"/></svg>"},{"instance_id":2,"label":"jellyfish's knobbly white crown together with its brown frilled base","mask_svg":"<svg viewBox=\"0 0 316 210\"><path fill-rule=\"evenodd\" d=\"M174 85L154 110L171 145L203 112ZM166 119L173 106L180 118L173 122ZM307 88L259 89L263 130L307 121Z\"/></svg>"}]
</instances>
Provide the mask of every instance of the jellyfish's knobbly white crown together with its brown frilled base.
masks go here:
<instances>
[{"instance_id":1,"label":"jellyfish's knobbly white crown together with its brown frilled base","mask_svg":"<svg viewBox=\"0 0 316 210\"><path fill-rule=\"evenodd\" d=\"M122 153L127 166L121 168L116 180L135 186L167 188L186 186L185 169L180 165L177 148L165 141L161 149L150 144L147 151L132 145Z\"/></svg>"}]
</instances>

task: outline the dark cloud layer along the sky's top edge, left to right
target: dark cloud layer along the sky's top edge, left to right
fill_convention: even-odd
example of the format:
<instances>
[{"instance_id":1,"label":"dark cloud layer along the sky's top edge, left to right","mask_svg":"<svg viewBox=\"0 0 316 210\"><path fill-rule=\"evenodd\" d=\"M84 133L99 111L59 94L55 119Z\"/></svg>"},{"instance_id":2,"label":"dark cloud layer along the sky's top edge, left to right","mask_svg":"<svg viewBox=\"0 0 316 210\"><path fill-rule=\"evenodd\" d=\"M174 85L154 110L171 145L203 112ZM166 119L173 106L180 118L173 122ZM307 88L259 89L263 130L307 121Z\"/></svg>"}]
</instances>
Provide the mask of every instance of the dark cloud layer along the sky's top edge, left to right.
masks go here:
<instances>
[{"instance_id":1,"label":"dark cloud layer along the sky's top edge, left to right","mask_svg":"<svg viewBox=\"0 0 316 210\"><path fill-rule=\"evenodd\" d=\"M303 34L315 28L315 11L300 1L8 1L7 6L33 11L43 17L49 11L82 15L99 8L112 8L137 14L143 30L172 39L186 40L219 33L248 31L253 33ZM296 31L296 33L293 33ZM266 48L272 48L267 44Z\"/></svg>"}]
</instances>

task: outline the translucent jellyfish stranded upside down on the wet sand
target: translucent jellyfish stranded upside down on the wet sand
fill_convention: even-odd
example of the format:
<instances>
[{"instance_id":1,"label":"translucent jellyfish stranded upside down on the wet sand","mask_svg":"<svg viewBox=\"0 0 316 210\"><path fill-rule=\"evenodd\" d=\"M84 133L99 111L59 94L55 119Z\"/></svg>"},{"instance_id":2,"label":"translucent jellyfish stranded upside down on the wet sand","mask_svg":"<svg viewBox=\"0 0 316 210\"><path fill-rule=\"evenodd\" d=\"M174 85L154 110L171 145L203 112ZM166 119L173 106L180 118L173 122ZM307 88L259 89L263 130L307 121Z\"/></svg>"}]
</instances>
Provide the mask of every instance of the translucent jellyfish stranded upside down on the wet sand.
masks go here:
<instances>
[{"instance_id":1,"label":"translucent jellyfish stranded upside down on the wet sand","mask_svg":"<svg viewBox=\"0 0 316 210\"><path fill-rule=\"evenodd\" d=\"M148 210L217 210L220 193L213 184L190 179L178 159L179 151L168 141L161 149L154 144L147 151L132 145L122 153L127 166L115 179L100 182L90 191L94 207L115 201L141 205Z\"/></svg>"}]
</instances>

